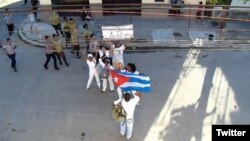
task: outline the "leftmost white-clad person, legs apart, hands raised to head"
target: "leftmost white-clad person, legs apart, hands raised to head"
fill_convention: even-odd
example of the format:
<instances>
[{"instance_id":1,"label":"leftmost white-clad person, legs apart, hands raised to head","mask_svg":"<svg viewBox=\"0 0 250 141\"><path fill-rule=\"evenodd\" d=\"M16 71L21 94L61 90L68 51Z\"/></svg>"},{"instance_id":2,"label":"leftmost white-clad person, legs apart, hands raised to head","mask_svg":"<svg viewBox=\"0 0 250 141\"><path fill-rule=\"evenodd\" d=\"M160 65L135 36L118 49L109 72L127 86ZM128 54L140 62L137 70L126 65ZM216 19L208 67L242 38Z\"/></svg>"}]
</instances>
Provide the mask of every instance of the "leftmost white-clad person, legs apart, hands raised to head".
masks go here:
<instances>
[{"instance_id":1,"label":"leftmost white-clad person, legs apart, hands raised to head","mask_svg":"<svg viewBox=\"0 0 250 141\"><path fill-rule=\"evenodd\" d=\"M88 54L88 58L87 58L87 64L89 66L89 79L88 79L88 83L87 83L87 90L90 87L90 84L92 83L93 77L95 77L96 79L96 83L98 88L101 87L101 82L100 82L100 78L98 75L98 72L96 70L96 60L93 58L92 54Z\"/></svg>"}]
</instances>

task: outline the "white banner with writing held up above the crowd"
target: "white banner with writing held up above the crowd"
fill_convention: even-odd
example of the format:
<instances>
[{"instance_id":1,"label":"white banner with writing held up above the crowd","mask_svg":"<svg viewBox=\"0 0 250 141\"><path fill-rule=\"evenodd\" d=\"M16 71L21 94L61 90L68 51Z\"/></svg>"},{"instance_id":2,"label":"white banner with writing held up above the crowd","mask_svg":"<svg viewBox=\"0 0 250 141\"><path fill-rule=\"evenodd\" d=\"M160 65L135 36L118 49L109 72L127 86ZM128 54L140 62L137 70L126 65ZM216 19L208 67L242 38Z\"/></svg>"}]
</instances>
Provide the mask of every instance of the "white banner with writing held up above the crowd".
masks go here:
<instances>
[{"instance_id":1,"label":"white banner with writing held up above the crowd","mask_svg":"<svg viewBox=\"0 0 250 141\"><path fill-rule=\"evenodd\" d=\"M103 39L124 40L134 38L133 25L102 26Z\"/></svg>"}]
</instances>

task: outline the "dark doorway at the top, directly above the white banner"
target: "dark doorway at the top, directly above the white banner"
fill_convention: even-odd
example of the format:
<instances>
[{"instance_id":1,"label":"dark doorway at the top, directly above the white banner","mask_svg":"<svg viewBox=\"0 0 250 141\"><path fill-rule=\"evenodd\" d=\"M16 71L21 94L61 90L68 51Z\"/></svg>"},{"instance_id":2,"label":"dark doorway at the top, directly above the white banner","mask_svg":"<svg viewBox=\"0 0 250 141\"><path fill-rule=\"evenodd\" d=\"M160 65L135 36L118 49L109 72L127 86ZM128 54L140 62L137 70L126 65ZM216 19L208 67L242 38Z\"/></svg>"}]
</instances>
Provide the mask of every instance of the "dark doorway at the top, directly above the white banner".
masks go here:
<instances>
[{"instance_id":1,"label":"dark doorway at the top, directly above the white banner","mask_svg":"<svg viewBox=\"0 0 250 141\"><path fill-rule=\"evenodd\" d=\"M141 15L141 0L102 0L103 15Z\"/></svg>"}]
</instances>

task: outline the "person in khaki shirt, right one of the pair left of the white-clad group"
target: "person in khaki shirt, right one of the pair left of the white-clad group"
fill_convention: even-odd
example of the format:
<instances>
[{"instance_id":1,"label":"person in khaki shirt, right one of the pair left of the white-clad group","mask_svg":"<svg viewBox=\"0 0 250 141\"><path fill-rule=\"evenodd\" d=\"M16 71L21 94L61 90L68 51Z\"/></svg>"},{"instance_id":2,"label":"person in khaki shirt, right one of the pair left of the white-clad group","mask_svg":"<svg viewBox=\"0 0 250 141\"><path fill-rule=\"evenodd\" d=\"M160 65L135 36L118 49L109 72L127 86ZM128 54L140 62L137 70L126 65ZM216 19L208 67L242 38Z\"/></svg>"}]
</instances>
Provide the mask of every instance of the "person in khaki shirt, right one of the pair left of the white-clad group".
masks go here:
<instances>
[{"instance_id":1,"label":"person in khaki shirt, right one of the pair left of the white-clad group","mask_svg":"<svg viewBox=\"0 0 250 141\"><path fill-rule=\"evenodd\" d=\"M63 45L61 41L58 39L58 36L56 34L53 34L53 48L55 49L56 56L59 60L60 65L62 65L61 57L63 58L63 61L66 66L69 66L69 63L67 62L66 56L63 52Z\"/></svg>"}]
</instances>

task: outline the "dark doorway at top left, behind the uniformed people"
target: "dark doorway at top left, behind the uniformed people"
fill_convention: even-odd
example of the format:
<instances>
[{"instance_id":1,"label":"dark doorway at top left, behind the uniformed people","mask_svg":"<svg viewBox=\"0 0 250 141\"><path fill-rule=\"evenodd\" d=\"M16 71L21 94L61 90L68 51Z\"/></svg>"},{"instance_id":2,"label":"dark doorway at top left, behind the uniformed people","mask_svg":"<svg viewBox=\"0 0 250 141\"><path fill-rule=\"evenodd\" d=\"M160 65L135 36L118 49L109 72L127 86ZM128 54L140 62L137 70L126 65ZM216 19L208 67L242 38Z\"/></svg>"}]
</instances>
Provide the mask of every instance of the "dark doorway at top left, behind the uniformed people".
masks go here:
<instances>
[{"instance_id":1,"label":"dark doorway at top left, behind the uniformed people","mask_svg":"<svg viewBox=\"0 0 250 141\"><path fill-rule=\"evenodd\" d=\"M53 8L58 10L74 10L74 9L82 9L87 6L89 8L89 0L51 0ZM79 16L80 12L58 12L63 16Z\"/></svg>"}]
</instances>

